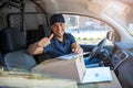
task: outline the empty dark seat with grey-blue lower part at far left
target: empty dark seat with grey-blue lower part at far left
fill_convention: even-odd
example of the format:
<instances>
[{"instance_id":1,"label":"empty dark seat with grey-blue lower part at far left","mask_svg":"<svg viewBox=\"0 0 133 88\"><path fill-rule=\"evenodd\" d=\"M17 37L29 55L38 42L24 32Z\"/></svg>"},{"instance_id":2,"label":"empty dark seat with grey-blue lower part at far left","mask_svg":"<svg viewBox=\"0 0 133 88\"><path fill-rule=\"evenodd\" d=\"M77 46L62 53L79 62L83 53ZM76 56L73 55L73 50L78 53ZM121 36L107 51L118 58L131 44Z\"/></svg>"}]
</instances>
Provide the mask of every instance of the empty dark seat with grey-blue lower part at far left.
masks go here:
<instances>
[{"instance_id":1,"label":"empty dark seat with grey-blue lower part at far left","mask_svg":"<svg viewBox=\"0 0 133 88\"><path fill-rule=\"evenodd\" d=\"M37 65L33 56L27 53L24 33L16 28L4 28L0 31L0 48L3 54L4 67L30 70Z\"/></svg>"}]
</instances>

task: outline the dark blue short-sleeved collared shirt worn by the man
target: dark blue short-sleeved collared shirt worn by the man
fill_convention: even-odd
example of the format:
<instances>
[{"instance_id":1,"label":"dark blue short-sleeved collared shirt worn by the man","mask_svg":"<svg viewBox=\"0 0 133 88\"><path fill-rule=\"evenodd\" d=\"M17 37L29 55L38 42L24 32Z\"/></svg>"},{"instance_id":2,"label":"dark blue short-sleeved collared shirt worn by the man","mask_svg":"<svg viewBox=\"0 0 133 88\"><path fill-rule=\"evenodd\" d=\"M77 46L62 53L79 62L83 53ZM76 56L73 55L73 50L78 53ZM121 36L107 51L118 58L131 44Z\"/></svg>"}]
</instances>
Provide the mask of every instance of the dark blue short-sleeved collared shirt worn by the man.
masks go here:
<instances>
[{"instance_id":1,"label":"dark blue short-sleeved collared shirt worn by the man","mask_svg":"<svg viewBox=\"0 0 133 88\"><path fill-rule=\"evenodd\" d=\"M57 37L53 37L50 45L44 47L44 53L50 54L51 57L70 54L72 53L71 44L73 43L75 43L74 36L70 33L64 33L63 43L60 42Z\"/></svg>"}]
</instances>

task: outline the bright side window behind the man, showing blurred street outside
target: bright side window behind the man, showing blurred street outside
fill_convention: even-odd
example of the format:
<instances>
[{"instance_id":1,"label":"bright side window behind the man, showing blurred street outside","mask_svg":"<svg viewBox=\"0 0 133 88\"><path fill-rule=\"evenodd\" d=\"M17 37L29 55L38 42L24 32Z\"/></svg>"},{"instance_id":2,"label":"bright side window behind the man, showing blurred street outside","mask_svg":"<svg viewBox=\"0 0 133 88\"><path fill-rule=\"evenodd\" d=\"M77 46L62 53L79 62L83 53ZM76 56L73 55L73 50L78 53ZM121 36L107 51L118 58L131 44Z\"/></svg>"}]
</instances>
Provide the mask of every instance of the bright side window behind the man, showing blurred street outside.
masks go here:
<instances>
[{"instance_id":1,"label":"bright side window behind the man, showing blurred street outside","mask_svg":"<svg viewBox=\"0 0 133 88\"><path fill-rule=\"evenodd\" d=\"M106 32L113 31L106 23L82 15L63 14L65 19L65 32L74 35L79 44L98 44L106 37ZM111 43L108 42L110 45Z\"/></svg>"}]
</instances>

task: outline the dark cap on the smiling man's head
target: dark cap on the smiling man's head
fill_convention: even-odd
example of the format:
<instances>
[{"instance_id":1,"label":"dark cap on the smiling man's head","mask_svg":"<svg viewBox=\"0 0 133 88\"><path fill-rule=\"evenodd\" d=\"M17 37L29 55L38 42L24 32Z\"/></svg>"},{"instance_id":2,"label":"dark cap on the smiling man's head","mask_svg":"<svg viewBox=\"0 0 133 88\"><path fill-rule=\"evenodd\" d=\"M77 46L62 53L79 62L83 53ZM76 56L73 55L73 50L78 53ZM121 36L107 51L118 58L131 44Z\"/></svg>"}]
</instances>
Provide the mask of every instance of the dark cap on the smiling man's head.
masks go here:
<instances>
[{"instance_id":1,"label":"dark cap on the smiling man's head","mask_svg":"<svg viewBox=\"0 0 133 88\"><path fill-rule=\"evenodd\" d=\"M54 24L55 22L62 22L64 23L64 18L62 14L53 14L51 18L50 18L50 25Z\"/></svg>"}]
</instances>

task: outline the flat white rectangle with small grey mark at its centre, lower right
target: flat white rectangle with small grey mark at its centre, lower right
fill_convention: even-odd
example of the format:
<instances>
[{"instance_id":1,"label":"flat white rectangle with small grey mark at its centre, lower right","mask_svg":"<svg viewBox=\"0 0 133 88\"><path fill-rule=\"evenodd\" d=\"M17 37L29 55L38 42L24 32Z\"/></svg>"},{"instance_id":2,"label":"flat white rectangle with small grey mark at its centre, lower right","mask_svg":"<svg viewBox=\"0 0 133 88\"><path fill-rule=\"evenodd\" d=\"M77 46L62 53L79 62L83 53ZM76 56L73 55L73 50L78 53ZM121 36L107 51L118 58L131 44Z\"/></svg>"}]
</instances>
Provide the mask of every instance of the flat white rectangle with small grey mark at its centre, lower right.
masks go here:
<instances>
[{"instance_id":1,"label":"flat white rectangle with small grey mark at its centre, lower right","mask_svg":"<svg viewBox=\"0 0 133 88\"><path fill-rule=\"evenodd\" d=\"M110 67L95 67L86 68L83 77L83 84L85 82L98 82L98 81L111 81L112 75Z\"/></svg>"}]
</instances>

